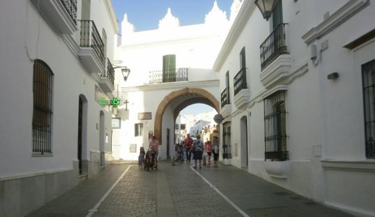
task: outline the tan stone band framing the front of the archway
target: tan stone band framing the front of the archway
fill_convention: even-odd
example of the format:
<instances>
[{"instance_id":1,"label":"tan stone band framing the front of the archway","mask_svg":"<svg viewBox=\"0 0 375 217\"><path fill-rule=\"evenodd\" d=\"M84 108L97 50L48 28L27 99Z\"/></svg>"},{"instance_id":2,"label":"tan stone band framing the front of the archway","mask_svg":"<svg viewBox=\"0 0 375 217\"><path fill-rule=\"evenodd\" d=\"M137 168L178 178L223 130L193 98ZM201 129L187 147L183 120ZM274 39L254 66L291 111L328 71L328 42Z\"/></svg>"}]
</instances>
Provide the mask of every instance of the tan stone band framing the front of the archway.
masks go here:
<instances>
[{"instance_id":1,"label":"tan stone band framing the front of the archway","mask_svg":"<svg viewBox=\"0 0 375 217\"><path fill-rule=\"evenodd\" d=\"M219 101L208 91L200 88L185 88L178 91L173 91L170 94L166 95L164 99L159 103L157 107L156 114L155 114L155 122L154 122L154 135L156 136L159 143L162 144L162 120L163 114L166 107L178 97L184 95L192 95L194 98L204 98L213 108L219 113L220 106Z\"/></svg>"}]
</instances>

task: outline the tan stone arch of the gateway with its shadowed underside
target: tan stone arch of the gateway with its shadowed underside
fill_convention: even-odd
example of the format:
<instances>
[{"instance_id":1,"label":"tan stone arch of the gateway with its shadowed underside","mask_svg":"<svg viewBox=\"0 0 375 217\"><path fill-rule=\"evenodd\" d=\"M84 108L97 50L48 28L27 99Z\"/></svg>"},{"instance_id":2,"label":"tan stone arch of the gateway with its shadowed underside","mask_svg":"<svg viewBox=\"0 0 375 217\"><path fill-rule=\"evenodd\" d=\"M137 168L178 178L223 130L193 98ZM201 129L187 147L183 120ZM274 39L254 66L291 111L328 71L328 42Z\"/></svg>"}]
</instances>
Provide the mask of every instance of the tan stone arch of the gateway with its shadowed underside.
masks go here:
<instances>
[{"instance_id":1,"label":"tan stone arch of the gateway with its shadowed underside","mask_svg":"<svg viewBox=\"0 0 375 217\"><path fill-rule=\"evenodd\" d=\"M163 114L165 109L173 102L177 102L177 106L174 108L175 117L183 108L195 103L207 104L208 106L213 107L217 112L220 111L219 101L210 94L210 92L204 89L184 88L171 92L159 103L155 114L154 135L157 137L160 144L162 144Z\"/></svg>"}]
</instances>

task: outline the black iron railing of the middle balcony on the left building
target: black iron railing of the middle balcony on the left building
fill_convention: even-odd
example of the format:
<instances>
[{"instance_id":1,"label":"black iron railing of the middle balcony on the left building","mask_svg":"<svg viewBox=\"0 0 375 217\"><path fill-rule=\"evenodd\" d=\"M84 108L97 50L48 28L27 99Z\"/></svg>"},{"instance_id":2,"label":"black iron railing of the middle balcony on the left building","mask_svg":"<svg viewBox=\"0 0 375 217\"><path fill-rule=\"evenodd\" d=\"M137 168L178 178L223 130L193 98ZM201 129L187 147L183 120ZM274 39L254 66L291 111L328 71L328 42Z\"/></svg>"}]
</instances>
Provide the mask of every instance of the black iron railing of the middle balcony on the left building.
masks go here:
<instances>
[{"instance_id":1,"label":"black iron railing of the middle balcony on the left building","mask_svg":"<svg viewBox=\"0 0 375 217\"><path fill-rule=\"evenodd\" d=\"M96 28L95 22L92 20L81 21L81 47L91 47L104 66L104 43Z\"/></svg>"}]
</instances>

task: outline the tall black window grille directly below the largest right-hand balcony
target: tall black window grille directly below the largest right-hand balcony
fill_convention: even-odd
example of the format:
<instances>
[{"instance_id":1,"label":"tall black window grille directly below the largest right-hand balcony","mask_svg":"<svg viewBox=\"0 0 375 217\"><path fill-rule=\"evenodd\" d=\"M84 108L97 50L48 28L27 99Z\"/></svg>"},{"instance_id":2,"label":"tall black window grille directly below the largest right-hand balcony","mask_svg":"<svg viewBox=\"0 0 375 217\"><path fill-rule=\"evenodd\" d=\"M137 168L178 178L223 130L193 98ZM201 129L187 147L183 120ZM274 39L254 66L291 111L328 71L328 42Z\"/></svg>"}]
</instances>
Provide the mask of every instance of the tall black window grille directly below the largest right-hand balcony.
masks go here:
<instances>
[{"instance_id":1,"label":"tall black window grille directly below the largest right-hand balcony","mask_svg":"<svg viewBox=\"0 0 375 217\"><path fill-rule=\"evenodd\" d=\"M264 98L265 160L286 161L287 131L285 123L285 91L277 91Z\"/></svg>"}]
</instances>

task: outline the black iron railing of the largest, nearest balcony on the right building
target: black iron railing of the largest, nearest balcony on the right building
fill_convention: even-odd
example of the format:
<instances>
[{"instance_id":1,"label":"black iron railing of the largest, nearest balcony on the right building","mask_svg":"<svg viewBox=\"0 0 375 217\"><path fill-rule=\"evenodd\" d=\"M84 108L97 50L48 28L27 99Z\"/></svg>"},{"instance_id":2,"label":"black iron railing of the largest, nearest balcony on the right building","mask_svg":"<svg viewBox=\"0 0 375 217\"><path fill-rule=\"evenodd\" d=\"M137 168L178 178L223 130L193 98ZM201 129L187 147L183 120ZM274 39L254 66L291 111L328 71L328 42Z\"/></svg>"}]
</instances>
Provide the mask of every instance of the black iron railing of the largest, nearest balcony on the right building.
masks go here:
<instances>
[{"instance_id":1,"label":"black iron railing of the largest, nearest balcony on the right building","mask_svg":"<svg viewBox=\"0 0 375 217\"><path fill-rule=\"evenodd\" d=\"M287 23L279 24L260 46L261 70L266 68L281 54L288 54L285 27Z\"/></svg>"}]
</instances>

